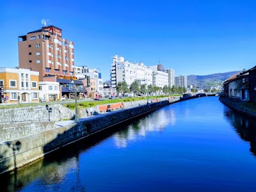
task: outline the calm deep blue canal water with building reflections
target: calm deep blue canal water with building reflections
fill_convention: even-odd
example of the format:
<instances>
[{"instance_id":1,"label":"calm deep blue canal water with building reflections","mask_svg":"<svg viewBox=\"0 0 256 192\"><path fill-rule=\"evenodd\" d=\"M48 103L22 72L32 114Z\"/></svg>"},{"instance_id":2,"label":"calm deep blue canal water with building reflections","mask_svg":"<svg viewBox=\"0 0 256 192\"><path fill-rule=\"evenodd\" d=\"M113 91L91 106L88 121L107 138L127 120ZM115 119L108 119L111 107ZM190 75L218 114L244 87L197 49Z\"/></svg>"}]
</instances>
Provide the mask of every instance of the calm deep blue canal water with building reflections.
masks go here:
<instances>
[{"instance_id":1,"label":"calm deep blue canal water with building reflections","mask_svg":"<svg viewBox=\"0 0 256 192\"><path fill-rule=\"evenodd\" d=\"M256 121L178 102L1 177L8 191L255 191Z\"/></svg>"}]
</instances>

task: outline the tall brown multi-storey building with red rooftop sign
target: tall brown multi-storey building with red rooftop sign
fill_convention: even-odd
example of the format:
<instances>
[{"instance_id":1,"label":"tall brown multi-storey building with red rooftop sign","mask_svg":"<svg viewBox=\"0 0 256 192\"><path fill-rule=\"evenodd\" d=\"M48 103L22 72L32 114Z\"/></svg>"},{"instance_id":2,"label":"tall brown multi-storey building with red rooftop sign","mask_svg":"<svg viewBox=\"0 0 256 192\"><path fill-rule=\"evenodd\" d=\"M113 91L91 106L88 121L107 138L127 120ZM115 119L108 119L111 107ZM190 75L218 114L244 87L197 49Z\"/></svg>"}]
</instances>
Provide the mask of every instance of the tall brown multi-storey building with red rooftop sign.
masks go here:
<instances>
[{"instance_id":1,"label":"tall brown multi-storey building with red rooftop sign","mask_svg":"<svg viewBox=\"0 0 256 192\"><path fill-rule=\"evenodd\" d=\"M45 26L19 36L19 67L39 72L39 81L52 75L60 79L76 79L74 42L62 38L62 30L55 26Z\"/></svg>"}]
</instances>

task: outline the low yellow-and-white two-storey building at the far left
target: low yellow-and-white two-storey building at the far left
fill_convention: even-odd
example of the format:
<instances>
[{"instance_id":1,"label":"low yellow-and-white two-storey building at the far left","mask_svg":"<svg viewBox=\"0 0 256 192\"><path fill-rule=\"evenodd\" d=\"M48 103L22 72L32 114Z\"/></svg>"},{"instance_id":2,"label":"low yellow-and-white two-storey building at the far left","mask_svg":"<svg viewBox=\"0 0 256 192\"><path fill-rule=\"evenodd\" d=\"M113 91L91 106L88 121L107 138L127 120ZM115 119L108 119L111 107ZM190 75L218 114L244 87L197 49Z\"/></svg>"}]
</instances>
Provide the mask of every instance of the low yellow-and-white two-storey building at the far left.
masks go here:
<instances>
[{"instance_id":1,"label":"low yellow-and-white two-storey building at the far left","mask_svg":"<svg viewBox=\"0 0 256 192\"><path fill-rule=\"evenodd\" d=\"M39 73L24 68L0 68L1 103L39 102Z\"/></svg>"}]
</instances>

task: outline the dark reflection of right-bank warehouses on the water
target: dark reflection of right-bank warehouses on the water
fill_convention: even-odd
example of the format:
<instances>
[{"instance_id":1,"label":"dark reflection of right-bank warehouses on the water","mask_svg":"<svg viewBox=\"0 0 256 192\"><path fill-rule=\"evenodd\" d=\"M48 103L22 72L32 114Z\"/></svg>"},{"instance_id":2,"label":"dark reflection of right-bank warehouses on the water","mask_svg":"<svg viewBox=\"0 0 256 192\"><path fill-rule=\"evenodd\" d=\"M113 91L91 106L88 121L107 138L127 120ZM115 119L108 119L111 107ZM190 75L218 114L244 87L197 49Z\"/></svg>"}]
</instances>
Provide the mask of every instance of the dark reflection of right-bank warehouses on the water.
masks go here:
<instances>
[{"instance_id":1,"label":"dark reflection of right-bank warehouses on the water","mask_svg":"<svg viewBox=\"0 0 256 192\"><path fill-rule=\"evenodd\" d=\"M250 142L250 152L256 156L256 120L231 109L225 110L224 113L241 139Z\"/></svg>"}]
</instances>

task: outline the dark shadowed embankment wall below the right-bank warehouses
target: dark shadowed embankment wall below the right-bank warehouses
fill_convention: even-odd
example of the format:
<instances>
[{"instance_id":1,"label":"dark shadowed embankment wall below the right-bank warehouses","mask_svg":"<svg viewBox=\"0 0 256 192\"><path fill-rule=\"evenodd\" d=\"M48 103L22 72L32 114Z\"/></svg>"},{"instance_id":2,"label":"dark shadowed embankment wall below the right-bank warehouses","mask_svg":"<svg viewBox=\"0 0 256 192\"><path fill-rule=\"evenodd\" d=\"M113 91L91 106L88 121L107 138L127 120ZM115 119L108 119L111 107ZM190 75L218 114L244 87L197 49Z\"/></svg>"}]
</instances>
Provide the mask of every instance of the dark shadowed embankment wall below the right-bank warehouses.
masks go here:
<instances>
[{"instance_id":1,"label":"dark shadowed embankment wall below the right-bank warehouses","mask_svg":"<svg viewBox=\"0 0 256 192\"><path fill-rule=\"evenodd\" d=\"M225 97L220 97L220 101L229 108L256 118L256 109L245 107L244 102L236 102Z\"/></svg>"}]
</instances>

